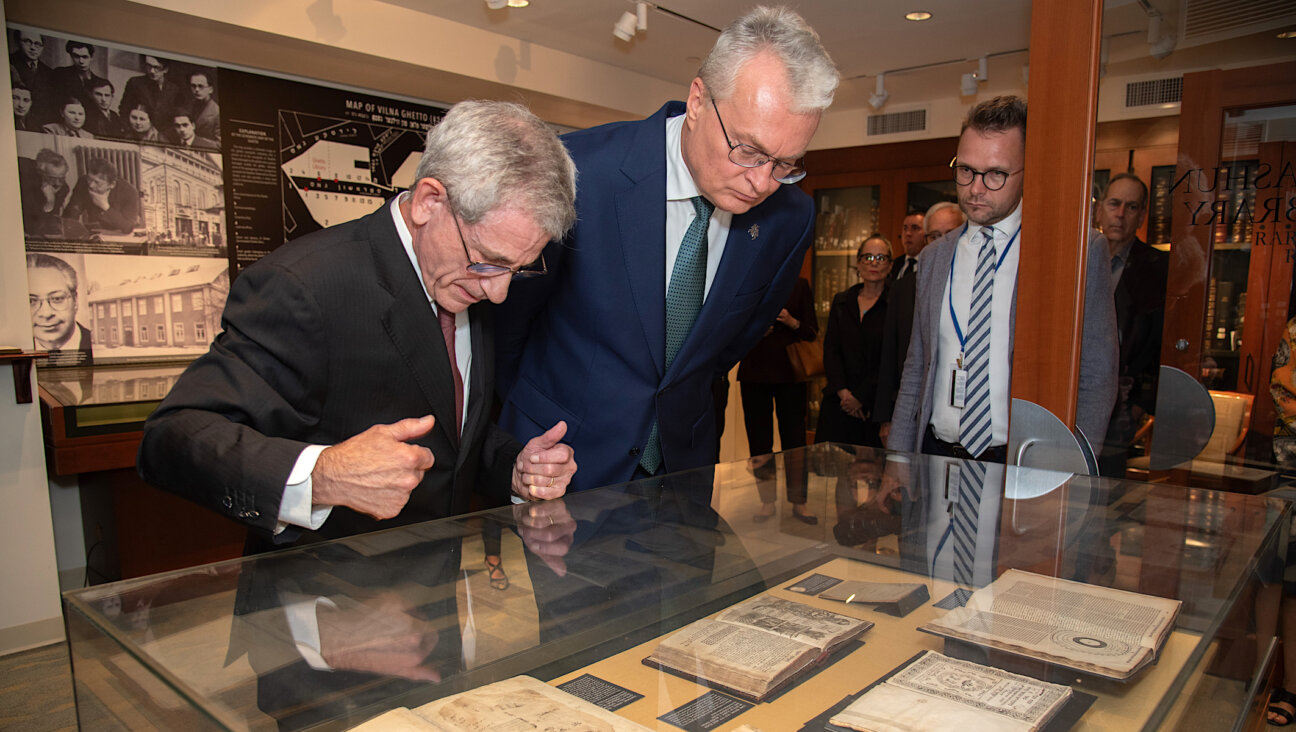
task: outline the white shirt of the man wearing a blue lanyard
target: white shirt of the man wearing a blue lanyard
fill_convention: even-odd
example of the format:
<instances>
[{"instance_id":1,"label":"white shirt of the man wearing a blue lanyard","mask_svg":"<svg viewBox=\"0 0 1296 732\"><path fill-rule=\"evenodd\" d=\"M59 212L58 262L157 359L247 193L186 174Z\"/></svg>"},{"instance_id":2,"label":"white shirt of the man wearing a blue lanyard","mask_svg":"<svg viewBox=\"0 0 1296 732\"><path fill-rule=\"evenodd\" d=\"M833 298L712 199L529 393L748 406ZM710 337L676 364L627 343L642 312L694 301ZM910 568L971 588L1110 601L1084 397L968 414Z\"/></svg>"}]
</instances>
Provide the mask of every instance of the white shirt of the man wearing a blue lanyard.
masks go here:
<instances>
[{"instance_id":1,"label":"white shirt of the man wearing a blue lanyard","mask_svg":"<svg viewBox=\"0 0 1296 732\"><path fill-rule=\"evenodd\" d=\"M972 281L981 251L981 228L968 223L954 247L953 280L946 279L941 295L941 321L936 349L936 385L932 396L932 428L945 442L959 440L963 409L950 404L950 386L963 346L954 330L954 316L967 337L968 311L972 307ZM1021 251L1021 203L1002 222L994 224L994 254L999 262L994 272L994 299L990 303L990 444L1008 443L1008 402L1012 396L1012 295L1017 288L1017 254ZM1012 245L1010 246L1010 242ZM950 314L953 303L954 315ZM966 364L964 364L966 365Z\"/></svg>"}]
</instances>

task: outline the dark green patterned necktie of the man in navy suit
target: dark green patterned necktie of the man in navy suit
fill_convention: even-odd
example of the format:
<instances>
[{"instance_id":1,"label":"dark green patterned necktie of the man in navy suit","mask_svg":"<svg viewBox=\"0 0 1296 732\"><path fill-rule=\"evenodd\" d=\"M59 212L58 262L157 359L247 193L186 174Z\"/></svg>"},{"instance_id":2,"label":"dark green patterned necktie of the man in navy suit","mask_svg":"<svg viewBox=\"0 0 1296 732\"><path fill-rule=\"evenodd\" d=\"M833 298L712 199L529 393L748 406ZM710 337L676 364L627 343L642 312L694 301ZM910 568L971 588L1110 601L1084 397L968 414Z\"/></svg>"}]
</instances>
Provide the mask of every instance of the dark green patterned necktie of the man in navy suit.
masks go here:
<instances>
[{"instance_id":1,"label":"dark green patterned necktie of the man in navy suit","mask_svg":"<svg viewBox=\"0 0 1296 732\"><path fill-rule=\"evenodd\" d=\"M693 211L697 216L688 224L684 232L684 241L679 245L679 254L675 255L675 266L670 271L670 286L666 288L666 367L675 361L675 354L684 345L684 338L693 329L697 312L702 310L702 295L706 290L706 227L712 220L712 211L715 206L701 196L693 197ZM644 444L643 456L639 465L649 475L661 468L661 435L657 431L657 420L652 422L652 431L648 433L648 442Z\"/></svg>"}]
</instances>

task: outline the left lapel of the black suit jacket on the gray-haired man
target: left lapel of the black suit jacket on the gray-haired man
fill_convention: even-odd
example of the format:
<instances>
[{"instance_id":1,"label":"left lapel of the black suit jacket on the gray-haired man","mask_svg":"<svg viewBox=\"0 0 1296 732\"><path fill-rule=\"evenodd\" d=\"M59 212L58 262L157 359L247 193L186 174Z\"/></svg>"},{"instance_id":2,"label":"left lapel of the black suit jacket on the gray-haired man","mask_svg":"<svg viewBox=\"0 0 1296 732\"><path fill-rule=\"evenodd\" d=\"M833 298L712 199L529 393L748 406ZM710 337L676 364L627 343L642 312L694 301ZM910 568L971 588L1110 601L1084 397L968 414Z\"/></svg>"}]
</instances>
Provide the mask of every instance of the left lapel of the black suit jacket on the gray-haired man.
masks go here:
<instances>
[{"instance_id":1,"label":"left lapel of the black suit jacket on the gray-haired man","mask_svg":"<svg viewBox=\"0 0 1296 732\"><path fill-rule=\"evenodd\" d=\"M391 293L391 303L382 314L382 328L437 417L434 429L442 430L450 444L456 444L455 395L445 386L455 378L450 355L441 337L441 324L391 222L389 203L369 216L368 228L380 285Z\"/></svg>"}]
</instances>

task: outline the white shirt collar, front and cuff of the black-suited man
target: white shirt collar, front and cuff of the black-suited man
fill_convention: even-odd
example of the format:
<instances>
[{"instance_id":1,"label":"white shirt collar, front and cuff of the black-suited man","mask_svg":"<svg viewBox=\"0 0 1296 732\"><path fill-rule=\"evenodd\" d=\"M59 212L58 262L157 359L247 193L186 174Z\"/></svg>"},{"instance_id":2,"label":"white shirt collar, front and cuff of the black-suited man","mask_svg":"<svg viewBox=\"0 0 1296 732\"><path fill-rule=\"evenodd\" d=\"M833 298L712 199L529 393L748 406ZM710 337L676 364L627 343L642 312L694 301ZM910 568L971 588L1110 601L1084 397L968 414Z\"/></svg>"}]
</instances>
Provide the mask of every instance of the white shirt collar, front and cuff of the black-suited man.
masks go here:
<instances>
[{"instance_id":1,"label":"white shirt collar, front and cuff of the black-suited man","mask_svg":"<svg viewBox=\"0 0 1296 732\"><path fill-rule=\"evenodd\" d=\"M428 293L428 285L422 281L422 269L419 268L419 257L413 251L413 236L404 223L404 216L400 215L400 201L404 201L407 196L410 196L408 192L397 196L388 205L388 209L391 211L391 220L395 223L397 234L400 237L406 255L410 258L410 266L413 267L415 275L419 277L419 286L422 288L422 294L426 295L428 303L435 314L437 303ZM464 264L467 266L467 262ZM468 311L455 314L455 361L459 364L459 373L464 377L464 406L463 413L459 415L459 422L463 424L468 415L468 385L470 383L468 376L473 364L473 337ZM311 500L311 472L315 470L315 463L325 447L328 446L311 444L297 456L297 463L293 464L293 470L288 474L288 483L284 485L284 495L279 504L279 525L275 527L276 534L289 523L305 529L319 529L333 510L333 507L315 505Z\"/></svg>"}]
</instances>

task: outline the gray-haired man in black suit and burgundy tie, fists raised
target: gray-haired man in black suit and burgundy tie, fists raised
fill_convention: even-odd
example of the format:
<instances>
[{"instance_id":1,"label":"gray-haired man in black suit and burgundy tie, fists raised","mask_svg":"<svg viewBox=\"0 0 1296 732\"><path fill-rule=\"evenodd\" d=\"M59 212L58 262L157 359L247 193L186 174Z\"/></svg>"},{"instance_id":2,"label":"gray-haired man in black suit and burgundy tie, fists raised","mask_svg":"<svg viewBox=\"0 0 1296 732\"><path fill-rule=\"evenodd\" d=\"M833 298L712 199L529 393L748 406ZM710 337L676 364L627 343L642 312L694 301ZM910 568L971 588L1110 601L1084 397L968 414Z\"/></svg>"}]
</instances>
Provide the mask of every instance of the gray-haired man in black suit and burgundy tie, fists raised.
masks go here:
<instances>
[{"instance_id":1,"label":"gray-haired man in black suit and burgundy tie, fists raised","mask_svg":"<svg viewBox=\"0 0 1296 732\"><path fill-rule=\"evenodd\" d=\"M240 275L222 334L145 424L140 474L250 525L249 552L463 513L473 491L561 495L565 425L521 447L490 424L478 303L562 236L574 196L525 108L454 106L411 190Z\"/></svg>"}]
</instances>

